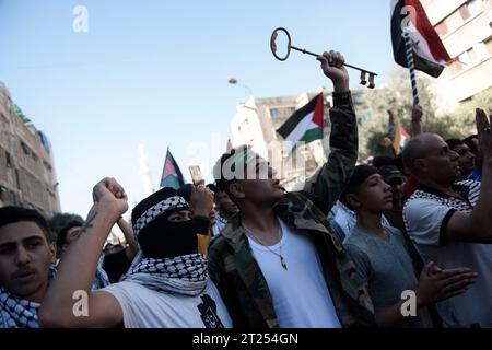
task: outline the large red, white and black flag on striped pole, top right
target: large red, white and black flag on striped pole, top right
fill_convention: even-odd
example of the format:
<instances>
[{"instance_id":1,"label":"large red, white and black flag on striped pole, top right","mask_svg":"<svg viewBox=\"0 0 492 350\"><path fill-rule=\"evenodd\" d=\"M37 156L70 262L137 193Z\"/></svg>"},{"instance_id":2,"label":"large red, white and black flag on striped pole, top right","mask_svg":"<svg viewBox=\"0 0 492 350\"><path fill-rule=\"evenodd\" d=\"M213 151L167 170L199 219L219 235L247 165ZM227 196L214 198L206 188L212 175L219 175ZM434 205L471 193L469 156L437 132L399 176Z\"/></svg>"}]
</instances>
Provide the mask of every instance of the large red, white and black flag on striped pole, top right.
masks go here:
<instances>
[{"instance_id":1,"label":"large red, white and black flag on striped pole, top right","mask_svg":"<svg viewBox=\"0 0 492 350\"><path fill-rule=\"evenodd\" d=\"M395 61L408 68L403 31L412 42L415 69L437 78L452 60L419 0L391 0L391 42Z\"/></svg>"}]
</instances>

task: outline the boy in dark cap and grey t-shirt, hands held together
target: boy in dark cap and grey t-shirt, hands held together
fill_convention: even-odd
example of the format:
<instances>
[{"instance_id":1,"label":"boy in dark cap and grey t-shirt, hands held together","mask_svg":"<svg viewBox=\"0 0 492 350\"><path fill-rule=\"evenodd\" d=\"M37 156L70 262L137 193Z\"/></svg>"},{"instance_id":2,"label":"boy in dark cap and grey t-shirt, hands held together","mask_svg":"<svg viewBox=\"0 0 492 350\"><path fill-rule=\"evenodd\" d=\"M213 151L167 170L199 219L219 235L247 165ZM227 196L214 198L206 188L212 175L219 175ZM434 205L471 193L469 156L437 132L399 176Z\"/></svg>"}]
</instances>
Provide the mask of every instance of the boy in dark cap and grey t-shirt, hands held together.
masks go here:
<instances>
[{"instance_id":1,"label":"boy in dark cap and grey t-shirt, hands held together","mask_svg":"<svg viewBox=\"0 0 492 350\"><path fill-rule=\"evenodd\" d=\"M477 275L467 268L440 270L427 264L419 279L403 235L396 228L384 228L380 217L393 206L391 187L377 168L355 167L340 200L355 211L358 223L344 246L368 284L376 322L382 327L432 327L426 305L461 294L475 282ZM417 317L403 317L403 291L417 295Z\"/></svg>"}]
</instances>

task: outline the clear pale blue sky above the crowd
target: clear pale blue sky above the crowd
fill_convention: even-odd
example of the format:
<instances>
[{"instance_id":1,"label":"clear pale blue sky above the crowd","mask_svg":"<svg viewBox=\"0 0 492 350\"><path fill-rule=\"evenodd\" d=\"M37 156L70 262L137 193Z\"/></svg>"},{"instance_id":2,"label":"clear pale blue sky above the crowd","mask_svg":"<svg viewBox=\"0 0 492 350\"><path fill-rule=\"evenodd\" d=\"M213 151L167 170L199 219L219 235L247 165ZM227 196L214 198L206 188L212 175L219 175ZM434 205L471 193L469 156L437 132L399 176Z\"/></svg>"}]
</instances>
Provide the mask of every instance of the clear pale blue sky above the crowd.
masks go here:
<instances>
[{"instance_id":1,"label":"clear pale blue sky above the crowd","mask_svg":"<svg viewBox=\"0 0 492 350\"><path fill-rule=\"evenodd\" d=\"M87 32L73 30L77 5ZM141 200L140 143L155 187L167 147L188 180L189 165L210 180L250 93L331 90L314 58L274 59L279 26L295 46L379 73L378 85L395 67L386 0L0 0L0 81L52 144L62 211L85 217L105 176L130 207ZM356 71L351 86L365 89Z\"/></svg>"}]
</instances>

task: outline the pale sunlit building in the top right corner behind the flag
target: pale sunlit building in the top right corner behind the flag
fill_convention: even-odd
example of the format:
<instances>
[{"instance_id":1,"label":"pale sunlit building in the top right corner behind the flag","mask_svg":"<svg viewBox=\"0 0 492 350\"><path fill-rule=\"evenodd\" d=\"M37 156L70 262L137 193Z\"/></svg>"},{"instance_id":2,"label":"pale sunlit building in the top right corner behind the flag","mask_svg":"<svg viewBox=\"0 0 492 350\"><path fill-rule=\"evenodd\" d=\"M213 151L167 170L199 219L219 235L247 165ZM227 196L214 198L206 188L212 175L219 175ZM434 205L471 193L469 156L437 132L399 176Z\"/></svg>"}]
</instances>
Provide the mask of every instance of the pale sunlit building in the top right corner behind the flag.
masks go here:
<instances>
[{"instance_id":1,"label":"pale sunlit building in the top right corner behind the flag","mask_svg":"<svg viewBox=\"0 0 492 350\"><path fill-rule=\"evenodd\" d=\"M453 61L436 83L445 109L492 86L492 1L421 0Z\"/></svg>"}]
</instances>

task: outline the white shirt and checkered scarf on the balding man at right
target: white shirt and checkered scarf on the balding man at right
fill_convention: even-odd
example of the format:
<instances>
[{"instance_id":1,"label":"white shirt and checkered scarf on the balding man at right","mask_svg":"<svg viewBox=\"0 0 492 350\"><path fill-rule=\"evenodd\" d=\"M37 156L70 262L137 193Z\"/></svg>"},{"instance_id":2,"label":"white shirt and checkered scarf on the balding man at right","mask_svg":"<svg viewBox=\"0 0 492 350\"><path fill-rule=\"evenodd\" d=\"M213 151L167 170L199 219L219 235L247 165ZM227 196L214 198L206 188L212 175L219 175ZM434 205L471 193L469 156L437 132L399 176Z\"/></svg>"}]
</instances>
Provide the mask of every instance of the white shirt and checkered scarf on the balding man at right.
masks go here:
<instances>
[{"instance_id":1,"label":"white shirt and checkered scarf on the balding man at right","mask_svg":"<svg viewBox=\"0 0 492 350\"><path fill-rule=\"evenodd\" d=\"M403 208L403 221L425 261L434 261L444 269L468 267L479 275L477 283L466 293L437 304L444 325L492 327L492 244L445 240L453 214L456 211L471 213L479 197L480 183L459 184L469 189L468 202L432 189L418 189Z\"/></svg>"}]
</instances>

